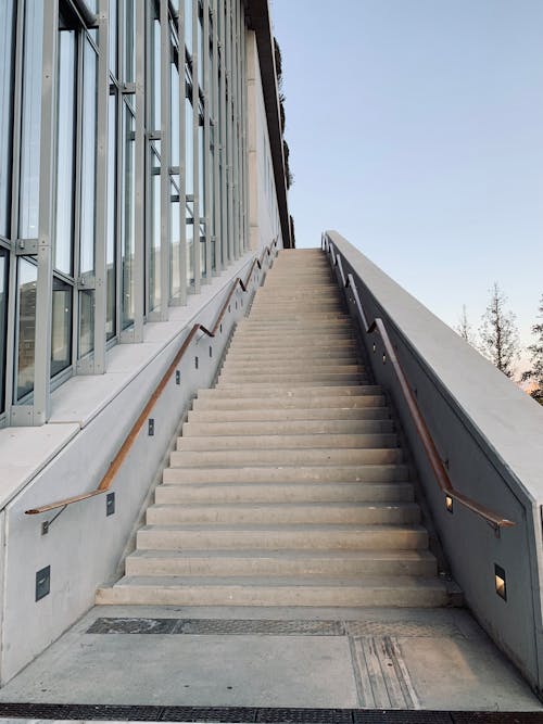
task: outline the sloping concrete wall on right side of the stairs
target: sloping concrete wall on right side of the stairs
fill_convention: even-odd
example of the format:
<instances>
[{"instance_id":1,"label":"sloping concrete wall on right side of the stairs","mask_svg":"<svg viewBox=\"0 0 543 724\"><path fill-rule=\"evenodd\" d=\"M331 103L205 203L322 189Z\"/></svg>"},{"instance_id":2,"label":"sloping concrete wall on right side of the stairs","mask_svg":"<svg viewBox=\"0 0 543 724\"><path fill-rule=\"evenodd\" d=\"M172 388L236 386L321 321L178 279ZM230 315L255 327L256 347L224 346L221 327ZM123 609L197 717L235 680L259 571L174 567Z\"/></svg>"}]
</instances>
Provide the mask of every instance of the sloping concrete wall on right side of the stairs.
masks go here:
<instances>
[{"instance_id":1,"label":"sloping concrete wall on right side of the stairs","mask_svg":"<svg viewBox=\"0 0 543 724\"><path fill-rule=\"evenodd\" d=\"M453 515L445 510L392 367L382 364L380 338L364 334L376 380L390 391L411 442L454 579L477 619L541 695L543 408L342 237L328 238L344 275L354 276L368 322L383 319L454 487L516 523L496 537L458 504ZM505 570L507 600L496 595L494 564Z\"/></svg>"}]
</instances>

